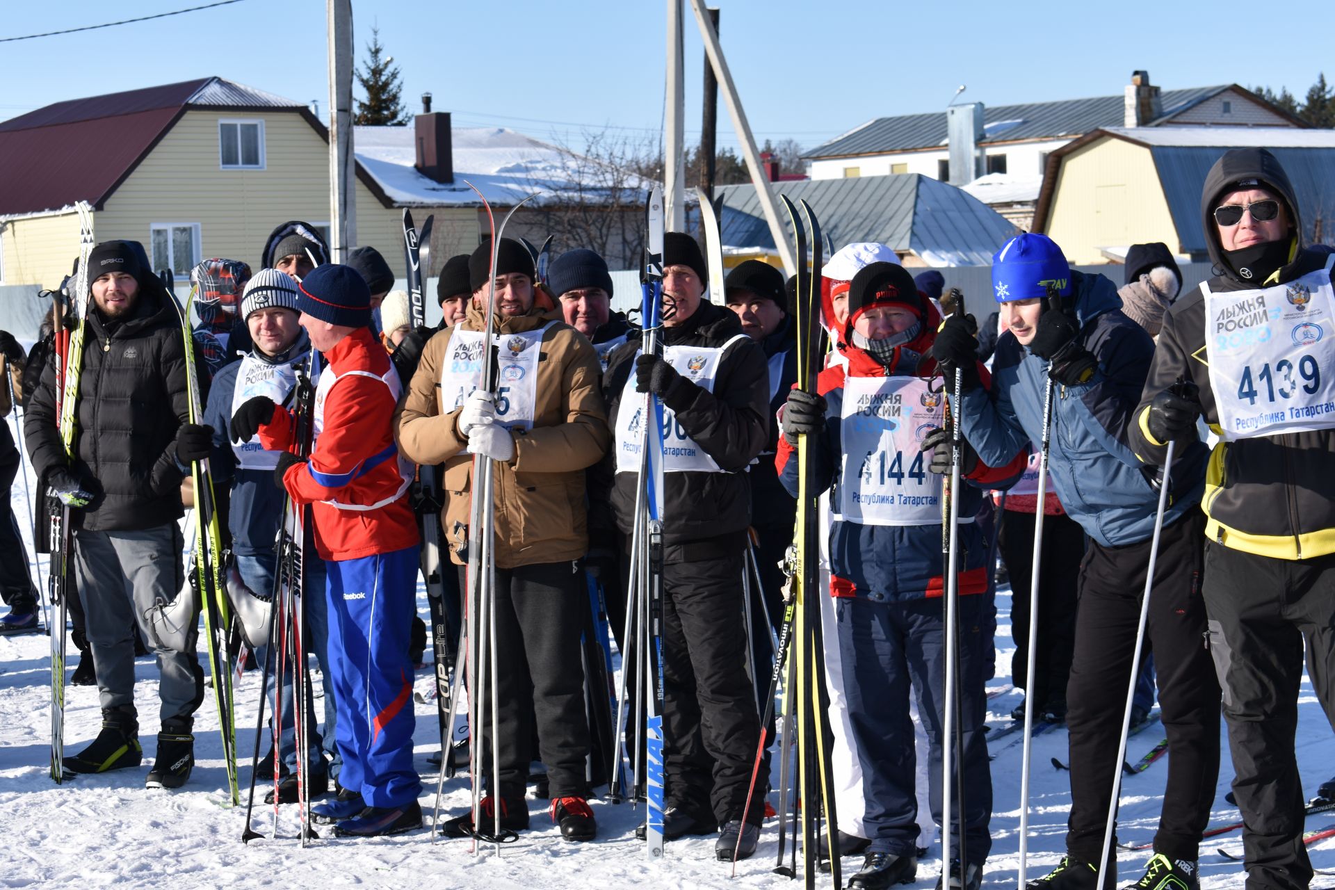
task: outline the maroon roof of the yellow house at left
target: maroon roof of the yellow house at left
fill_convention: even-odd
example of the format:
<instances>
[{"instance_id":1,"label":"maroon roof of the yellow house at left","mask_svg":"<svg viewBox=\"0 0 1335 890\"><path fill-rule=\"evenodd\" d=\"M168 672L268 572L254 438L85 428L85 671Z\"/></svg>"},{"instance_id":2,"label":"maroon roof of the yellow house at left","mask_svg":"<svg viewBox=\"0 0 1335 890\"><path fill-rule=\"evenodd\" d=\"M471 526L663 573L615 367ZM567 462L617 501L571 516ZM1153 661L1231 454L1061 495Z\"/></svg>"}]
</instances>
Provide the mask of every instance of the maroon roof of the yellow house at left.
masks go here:
<instances>
[{"instance_id":1,"label":"maroon roof of the yellow house at left","mask_svg":"<svg viewBox=\"0 0 1335 890\"><path fill-rule=\"evenodd\" d=\"M323 137L324 125L296 101L222 77L57 101L0 123L0 215L96 209L190 109L290 111ZM362 181L388 205L379 187Z\"/></svg>"}]
</instances>

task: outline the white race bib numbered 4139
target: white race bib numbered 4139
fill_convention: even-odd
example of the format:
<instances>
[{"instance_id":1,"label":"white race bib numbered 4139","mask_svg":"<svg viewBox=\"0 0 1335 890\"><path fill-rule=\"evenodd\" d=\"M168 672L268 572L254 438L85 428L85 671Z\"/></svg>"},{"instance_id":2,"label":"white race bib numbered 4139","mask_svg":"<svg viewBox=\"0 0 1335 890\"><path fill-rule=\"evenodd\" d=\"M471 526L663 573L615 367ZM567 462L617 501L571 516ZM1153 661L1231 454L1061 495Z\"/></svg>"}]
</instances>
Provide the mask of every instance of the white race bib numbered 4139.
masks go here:
<instances>
[{"instance_id":1,"label":"white race bib numbered 4139","mask_svg":"<svg viewBox=\"0 0 1335 890\"><path fill-rule=\"evenodd\" d=\"M1226 440L1335 427L1331 264L1262 290L1206 284L1210 386Z\"/></svg>"}]
</instances>

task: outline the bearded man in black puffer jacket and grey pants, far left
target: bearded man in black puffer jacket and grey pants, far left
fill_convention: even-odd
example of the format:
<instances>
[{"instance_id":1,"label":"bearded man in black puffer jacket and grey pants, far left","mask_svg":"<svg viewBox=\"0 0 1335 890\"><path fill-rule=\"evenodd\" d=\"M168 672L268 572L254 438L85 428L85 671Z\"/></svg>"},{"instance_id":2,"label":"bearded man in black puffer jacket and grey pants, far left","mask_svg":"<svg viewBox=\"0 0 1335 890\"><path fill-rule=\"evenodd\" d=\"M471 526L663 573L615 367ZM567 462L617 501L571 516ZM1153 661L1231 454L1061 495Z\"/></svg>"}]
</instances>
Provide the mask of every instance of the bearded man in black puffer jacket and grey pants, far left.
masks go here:
<instances>
[{"instance_id":1,"label":"bearded man in black puffer jacket and grey pants, far left","mask_svg":"<svg viewBox=\"0 0 1335 890\"><path fill-rule=\"evenodd\" d=\"M144 639L156 642L144 614L182 587L180 483L191 460L208 456L212 439L208 427L187 423L180 319L142 256L134 242L104 242L89 256L73 459L65 458L56 424L55 363L43 368L24 424L41 488L71 507L72 571L101 693L101 734L65 758L72 773L140 762L132 626L138 622ZM175 787L194 762L192 715L204 697L204 674L194 634L182 651L159 644L154 652L162 734L148 785Z\"/></svg>"}]
</instances>

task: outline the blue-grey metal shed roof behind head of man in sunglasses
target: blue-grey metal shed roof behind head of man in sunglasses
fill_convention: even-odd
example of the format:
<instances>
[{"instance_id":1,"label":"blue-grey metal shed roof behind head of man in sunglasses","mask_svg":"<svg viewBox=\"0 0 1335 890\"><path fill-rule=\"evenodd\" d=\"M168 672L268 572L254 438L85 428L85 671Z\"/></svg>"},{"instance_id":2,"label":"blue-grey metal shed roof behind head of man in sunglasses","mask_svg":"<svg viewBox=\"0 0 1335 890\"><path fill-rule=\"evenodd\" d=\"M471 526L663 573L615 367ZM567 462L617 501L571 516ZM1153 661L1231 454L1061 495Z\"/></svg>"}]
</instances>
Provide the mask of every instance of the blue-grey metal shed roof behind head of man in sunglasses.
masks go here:
<instances>
[{"instance_id":1,"label":"blue-grey metal shed roof behind head of man in sunglasses","mask_svg":"<svg viewBox=\"0 0 1335 890\"><path fill-rule=\"evenodd\" d=\"M1149 149L1184 254L1206 254L1208 250L1200 219L1200 191L1206 185L1206 173L1226 151L1228 151L1226 147L1179 145L1155 145ZM1335 188L1331 185L1335 145L1270 148L1270 151L1284 167L1298 195L1298 215L1303 220L1304 240L1308 243L1315 240L1314 223L1319 217L1326 220L1323 240L1330 242L1335 235L1331 226L1331 220L1335 219Z\"/></svg>"}]
</instances>

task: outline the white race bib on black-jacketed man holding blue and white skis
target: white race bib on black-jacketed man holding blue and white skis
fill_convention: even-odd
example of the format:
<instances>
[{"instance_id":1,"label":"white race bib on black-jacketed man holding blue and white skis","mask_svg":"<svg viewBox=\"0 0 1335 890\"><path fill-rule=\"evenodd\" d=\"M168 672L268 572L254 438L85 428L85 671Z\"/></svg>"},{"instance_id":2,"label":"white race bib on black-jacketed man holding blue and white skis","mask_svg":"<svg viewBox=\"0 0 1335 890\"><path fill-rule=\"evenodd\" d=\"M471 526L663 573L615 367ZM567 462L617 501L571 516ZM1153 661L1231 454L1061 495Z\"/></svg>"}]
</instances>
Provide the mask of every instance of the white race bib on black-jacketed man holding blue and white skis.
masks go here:
<instances>
[{"instance_id":1,"label":"white race bib on black-jacketed man holding blue and white skis","mask_svg":"<svg viewBox=\"0 0 1335 890\"><path fill-rule=\"evenodd\" d=\"M714 376L718 374L724 351L737 340L745 339L745 334L738 334L718 348L669 346L663 348L663 359L684 378L706 392L713 392ZM621 391L621 408L617 411L617 472L639 470L642 438L639 424L643 406L645 394L635 392L635 374L631 371ZM714 459L686 435L677 415L666 406L663 406L663 472L722 472Z\"/></svg>"}]
</instances>

